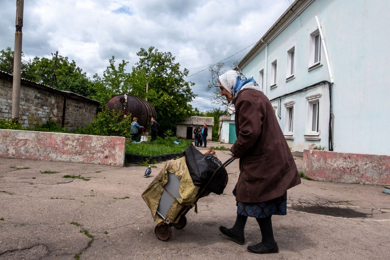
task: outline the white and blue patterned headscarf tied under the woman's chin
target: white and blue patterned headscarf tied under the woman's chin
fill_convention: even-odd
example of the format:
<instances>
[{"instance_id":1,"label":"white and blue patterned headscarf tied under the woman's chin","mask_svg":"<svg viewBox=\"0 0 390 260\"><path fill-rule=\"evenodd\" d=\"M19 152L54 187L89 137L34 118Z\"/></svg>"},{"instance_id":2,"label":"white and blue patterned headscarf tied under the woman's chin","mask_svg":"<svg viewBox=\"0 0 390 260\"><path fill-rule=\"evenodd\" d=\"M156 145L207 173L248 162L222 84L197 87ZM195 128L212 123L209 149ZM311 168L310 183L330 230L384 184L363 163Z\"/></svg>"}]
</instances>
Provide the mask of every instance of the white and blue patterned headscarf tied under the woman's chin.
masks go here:
<instances>
[{"instance_id":1,"label":"white and blue patterned headscarf tied under the woman's chin","mask_svg":"<svg viewBox=\"0 0 390 260\"><path fill-rule=\"evenodd\" d=\"M218 79L221 82L222 87L232 94L233 99L243 89L262 91L259 84L257 84L253 78L246 78L241 72L235 70L229 70L223 73ZM232 102L227 106L227 110L230 114L233 114L236 111Z\"/></svg>"}]
</instances>

